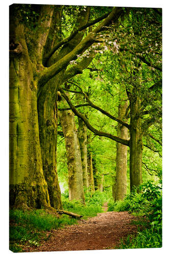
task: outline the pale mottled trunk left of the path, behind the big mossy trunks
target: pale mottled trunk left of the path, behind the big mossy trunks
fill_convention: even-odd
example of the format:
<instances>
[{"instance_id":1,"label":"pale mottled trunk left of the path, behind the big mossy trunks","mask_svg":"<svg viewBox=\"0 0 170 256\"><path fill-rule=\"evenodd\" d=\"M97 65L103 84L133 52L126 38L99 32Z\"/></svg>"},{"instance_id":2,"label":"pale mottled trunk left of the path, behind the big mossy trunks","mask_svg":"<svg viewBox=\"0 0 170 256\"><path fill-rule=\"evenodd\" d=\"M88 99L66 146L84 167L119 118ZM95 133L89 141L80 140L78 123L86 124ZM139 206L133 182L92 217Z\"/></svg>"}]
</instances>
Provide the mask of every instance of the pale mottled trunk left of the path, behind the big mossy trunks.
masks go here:
<instances>
[{"instance_id":1,"label":"pale mottled trunk left of the path, behind the big mossy trunks","mask_svg":"<svg viewBox=\"0 0 170 256\"><path fill-rule=\"evenodd\" d=\"M72 111L59 111L59 118L65 138L68 166L69 200L81 200L85 203L83 174L78 131Z\"/></svg>"}]
</instances>

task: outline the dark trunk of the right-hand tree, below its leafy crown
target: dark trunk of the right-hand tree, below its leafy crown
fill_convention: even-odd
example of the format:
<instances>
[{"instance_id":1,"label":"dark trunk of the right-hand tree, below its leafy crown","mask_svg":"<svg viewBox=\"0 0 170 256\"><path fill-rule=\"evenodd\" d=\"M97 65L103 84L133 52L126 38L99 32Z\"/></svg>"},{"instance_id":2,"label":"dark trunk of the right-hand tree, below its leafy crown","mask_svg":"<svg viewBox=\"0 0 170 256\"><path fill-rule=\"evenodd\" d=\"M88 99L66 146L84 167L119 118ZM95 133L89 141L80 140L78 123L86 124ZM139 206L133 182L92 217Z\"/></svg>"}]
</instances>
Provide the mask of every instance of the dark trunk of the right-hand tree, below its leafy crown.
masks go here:
<instances>
[{"instance_id":1,"label":"dark trunk of the right-hand tree, below its leafy crown","mask_svg":"<svg viewBox=\"0 0 170 256\"><path fill-rule=\"evenodd\" d=\"M129 95L131 121L130 121L130 189L139 187L142 183L142 131L141 131L141 118L140 99L135 94ZM139 191L139 189L138 189Z\"/></svg>"}]
</instances>

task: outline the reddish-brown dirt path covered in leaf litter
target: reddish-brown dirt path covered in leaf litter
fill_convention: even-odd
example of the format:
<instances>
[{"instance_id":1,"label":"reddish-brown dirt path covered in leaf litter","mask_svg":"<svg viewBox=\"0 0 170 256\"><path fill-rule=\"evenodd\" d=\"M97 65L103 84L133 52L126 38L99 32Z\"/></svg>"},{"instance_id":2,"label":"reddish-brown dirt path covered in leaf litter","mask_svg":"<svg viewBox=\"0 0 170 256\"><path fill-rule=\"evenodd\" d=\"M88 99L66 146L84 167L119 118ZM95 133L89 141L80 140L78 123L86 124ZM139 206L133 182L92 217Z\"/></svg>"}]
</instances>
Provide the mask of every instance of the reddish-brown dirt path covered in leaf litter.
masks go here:
<instances>
[{"instance_id":1,"label":"reddish-brown dirt path covered in leaf litter","mask_svg":"<svg viewBox=\"0 0 170 256\"><path fill-rule=\"evenodd\" d=\"M25 247L23 252L114 249L128 234L137 232L138 225L131 224L137 218L127 211L107 212L107 203L103 211L96 217L79 220L78 224L45 231L46 237L50 236L47 241L38 247Z\"/></svg>"}]
</instances>

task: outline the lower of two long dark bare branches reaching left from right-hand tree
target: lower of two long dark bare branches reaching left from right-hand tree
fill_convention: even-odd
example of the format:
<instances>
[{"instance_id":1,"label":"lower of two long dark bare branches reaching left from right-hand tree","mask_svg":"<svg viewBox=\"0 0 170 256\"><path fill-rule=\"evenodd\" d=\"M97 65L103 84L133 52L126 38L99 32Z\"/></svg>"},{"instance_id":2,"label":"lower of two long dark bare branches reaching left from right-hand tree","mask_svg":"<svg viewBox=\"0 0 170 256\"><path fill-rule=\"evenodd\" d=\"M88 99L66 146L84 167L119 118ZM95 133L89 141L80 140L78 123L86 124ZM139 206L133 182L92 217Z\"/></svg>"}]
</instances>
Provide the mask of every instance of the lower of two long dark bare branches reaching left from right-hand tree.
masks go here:
<instances>
[{"instance_id":1,"label":"lower of two long dark bare branches reaching left from right-hand tree","mask_svg":"<svg viewBox=\"0 0 170 256\"><path fill-rule=\"evenodd\" d=\"M124 145L127 145L129 146L129 140L126 140L126 139L122 139L122 138L119 138L117 136L114 136L112 134L109 134L109 133L105 133L105 132L101 132L101 131L98 131L96 130L93 126L91 126L91 124L87 121L87 118L82 115L80 112L77 111L77 109L75 108L75 106L71 103L71 101L69 100L69 98L67 97L67 95L64 93L64 90L62 88L59 89L59 91L61 91L62 93L62 96L65 98L65 100L67 101L68 105L70 106L72 112L74 112L74 114L76 116L78 116L79 118L81 118L84 123L86 124L87 128L93 132L95 135L98 135L98 136L103 136L103 137L107 137L107 138L110 138L116 142L119 142L121 144L124 144Z\"/></svg>"}]
</instances>

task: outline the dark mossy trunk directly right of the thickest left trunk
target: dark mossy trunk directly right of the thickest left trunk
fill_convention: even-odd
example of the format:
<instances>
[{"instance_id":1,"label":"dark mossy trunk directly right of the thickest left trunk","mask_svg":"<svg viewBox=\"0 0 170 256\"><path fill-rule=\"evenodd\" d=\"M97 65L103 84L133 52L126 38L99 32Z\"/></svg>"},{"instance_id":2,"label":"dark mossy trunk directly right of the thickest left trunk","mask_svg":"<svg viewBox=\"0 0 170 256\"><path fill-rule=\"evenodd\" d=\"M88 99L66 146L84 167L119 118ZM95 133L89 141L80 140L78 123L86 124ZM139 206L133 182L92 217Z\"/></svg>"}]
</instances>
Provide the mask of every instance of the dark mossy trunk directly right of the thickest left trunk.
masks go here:
<instances>
[{"instance_id":1,"label":"dark mossy trunk directly right of the thickest left trunk","mask_svg":"<svg viewBox=\"0 0 170 256\"><path fill-rule=\"evenodd\" d=\"M57 79L55 79L57 82ZM44 178L47 182L51 206L62 209L57 174L57 84L48 82L38 98L38 120Z\"/></svg>"}]
</instances>

